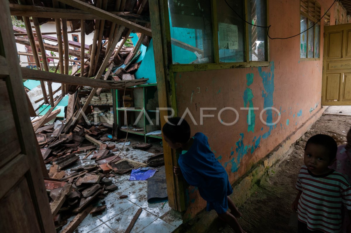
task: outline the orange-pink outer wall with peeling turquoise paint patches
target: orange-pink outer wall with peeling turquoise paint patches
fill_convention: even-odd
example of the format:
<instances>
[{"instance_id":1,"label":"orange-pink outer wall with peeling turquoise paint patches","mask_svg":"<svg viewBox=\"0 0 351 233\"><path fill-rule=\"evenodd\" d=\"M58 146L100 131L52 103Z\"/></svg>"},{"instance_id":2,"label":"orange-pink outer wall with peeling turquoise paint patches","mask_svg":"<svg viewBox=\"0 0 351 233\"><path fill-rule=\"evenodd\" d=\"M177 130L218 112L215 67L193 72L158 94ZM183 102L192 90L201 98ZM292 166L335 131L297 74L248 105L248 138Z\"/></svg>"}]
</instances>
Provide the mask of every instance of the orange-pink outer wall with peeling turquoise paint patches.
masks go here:
<instances>
[{"instance_id":1,"label":"orange-pink outer wall with peeling turquoise paint patches","mask_svg":"<svg viewBox=\"0 0 351 233\"><path fill-rule=\"evenodd\" d=\"M322 12L330 7L333 0L319 0ZM331 9L334 19L334 9ZM271 37L287 37L300 32L299 0L269 1L269 19L272 25ZM323 21L322 21L323 22ZM335 19L331 20L334 24ZM178 115L188 108L198 126L191 123L192 134L203 132L216 158L226 168L231 183L250 170L260 159L269 154L289 134L299 128L320 108L322 89L323 23L321 27L320 60L300 60L300 36L287 40L270 40L270 66L255 68L222 69L175 74ZM253 83L247 77L253 75ZM248 84L250 84L248 86ZM253 96L250 97L252 92ZM254 127L247 123L247 107L252 99L255 111ZM205 118L200 126L200 108L216 107L217 111L204 111L214 114ZM239 113L234 126L223 126L217 119L221 108L232 107ZM280 111L281 119L275 126L265 126L260 122L260 111L274 107ZM269 113L269 112L266 112ZM275 112L264 113L272 121L278 119ZM235 115L225 111L221 115L224 122L232 122ZM272 122L271 121L271 122ZM185 219L201 211L206 202L196 188L188 189L188 208Z\"/></svg>"}]
</instances>

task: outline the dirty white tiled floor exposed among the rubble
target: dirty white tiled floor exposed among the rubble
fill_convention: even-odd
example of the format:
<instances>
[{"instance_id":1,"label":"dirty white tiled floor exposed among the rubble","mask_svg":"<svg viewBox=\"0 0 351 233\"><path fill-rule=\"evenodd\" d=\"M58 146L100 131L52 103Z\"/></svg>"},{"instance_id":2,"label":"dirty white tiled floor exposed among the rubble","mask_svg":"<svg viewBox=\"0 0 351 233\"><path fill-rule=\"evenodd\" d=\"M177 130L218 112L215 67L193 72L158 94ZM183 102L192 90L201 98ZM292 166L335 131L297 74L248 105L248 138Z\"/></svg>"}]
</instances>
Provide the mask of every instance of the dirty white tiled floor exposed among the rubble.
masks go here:
<instances>
[{"instance_id":1,"label":"dirty white tiled floor exposed among the rubble","mask_svg":"<svg viewBox=\"0 0 351 233\"><path fill-rule=\"evenodd\" d=\"M121 148L121 145L116 147ZM127 151L125 148L128 148ZM120 157L128 158L138 162L145 162L151 153L132 149L125 146ZM119 151L114 152L118 154ZM84 154L83 154L84 155ZM90 155L86 160L90 162ZM90 161L89 161L90 160ZM77 166L77 165L76 165ZM132 228L133 233L167 233L172 232L182 224L181 215L168 206L168 202L149 204L147 202L147 181L129 181L129 174L116 175L110 178L118 189L111 192L103 200L96 202L99 205L102 201L106 202L106 210L93 217L91 214L79 224L75 232L79 233L109 233L124 232L134 214L139 208L143 208L139 218ZM119 199L121 195L128 195L125 199ZM67 224L74 218L68 219Z\"/></svg>"}]
</instances>

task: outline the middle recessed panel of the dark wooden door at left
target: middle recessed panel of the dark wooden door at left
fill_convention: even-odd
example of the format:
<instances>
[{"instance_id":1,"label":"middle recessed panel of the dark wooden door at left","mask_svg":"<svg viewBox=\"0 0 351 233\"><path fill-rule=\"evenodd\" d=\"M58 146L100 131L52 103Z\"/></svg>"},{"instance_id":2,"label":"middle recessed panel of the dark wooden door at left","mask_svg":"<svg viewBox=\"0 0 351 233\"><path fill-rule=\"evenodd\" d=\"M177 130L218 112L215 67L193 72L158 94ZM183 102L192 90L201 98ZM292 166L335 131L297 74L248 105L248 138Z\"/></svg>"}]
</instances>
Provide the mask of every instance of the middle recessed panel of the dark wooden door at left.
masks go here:
<instances>
[{"instance_id":1,"label":"middle recessed panel of the dark wooden door at left","mask_svg":"<svg viewBox=\"0 0 351 233\"><path fill-rule=\"evenodd\" d=\"M14 155L20 153L21 147L16 133L16 126L13 120L10 99L4 79L0 79L0 135L4 144L0 147L0 167Z\"/></svg>"}]
</instances>

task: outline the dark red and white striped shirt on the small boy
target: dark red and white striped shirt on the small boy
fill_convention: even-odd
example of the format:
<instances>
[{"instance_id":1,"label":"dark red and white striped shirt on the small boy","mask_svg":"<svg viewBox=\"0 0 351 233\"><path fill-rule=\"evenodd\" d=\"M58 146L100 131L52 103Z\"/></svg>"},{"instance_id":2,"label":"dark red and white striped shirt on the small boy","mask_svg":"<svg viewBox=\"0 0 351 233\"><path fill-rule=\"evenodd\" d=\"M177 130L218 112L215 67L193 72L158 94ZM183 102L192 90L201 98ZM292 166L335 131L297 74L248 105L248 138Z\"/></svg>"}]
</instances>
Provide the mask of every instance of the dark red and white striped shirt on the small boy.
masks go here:
<instances>
[{"instance_id":1,"label":"dark red and white striped shirt on the small boy","mask_svg":"<svg viewBox=\"0 0 351 233\"><path fill-rule=\"evenodd\" d=\"M351 209L351 187L343 174L332 170L313 175L304 165L300 169L296 188L302 191L298 203L298 219L311 231L340 233L341 209Z\"/></svg>"}]
</instances>

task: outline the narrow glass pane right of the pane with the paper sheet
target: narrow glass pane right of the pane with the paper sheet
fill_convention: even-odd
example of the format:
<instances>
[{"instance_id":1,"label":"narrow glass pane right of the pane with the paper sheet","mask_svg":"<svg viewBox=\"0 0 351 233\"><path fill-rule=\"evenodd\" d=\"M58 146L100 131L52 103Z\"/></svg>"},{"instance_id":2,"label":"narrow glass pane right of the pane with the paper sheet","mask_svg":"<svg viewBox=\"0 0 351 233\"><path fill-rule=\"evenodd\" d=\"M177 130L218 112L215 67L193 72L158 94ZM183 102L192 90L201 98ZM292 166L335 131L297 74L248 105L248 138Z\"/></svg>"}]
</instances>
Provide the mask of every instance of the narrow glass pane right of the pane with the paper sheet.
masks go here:
<instances>
[{"instance_id":1,"label":"narrow glass pane right of the pane with the paper sheet","mask_svg":"<svg viewBox=\"0 0 351 233\"><path fill-rule=\"evenodd\" d=\"M266 1L247 0L248 21L254 25L266 26ZM250 61L267 61L267 29L249 25Z\"/></svg>"}]
</instances>

